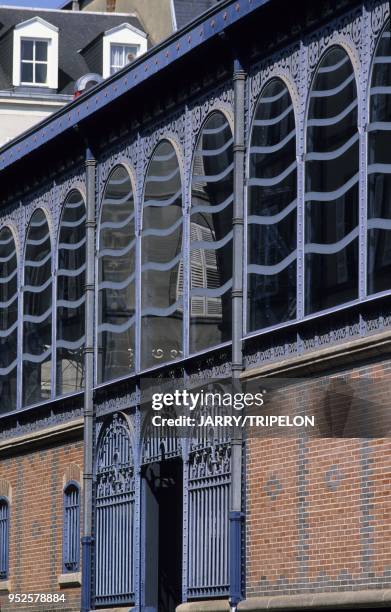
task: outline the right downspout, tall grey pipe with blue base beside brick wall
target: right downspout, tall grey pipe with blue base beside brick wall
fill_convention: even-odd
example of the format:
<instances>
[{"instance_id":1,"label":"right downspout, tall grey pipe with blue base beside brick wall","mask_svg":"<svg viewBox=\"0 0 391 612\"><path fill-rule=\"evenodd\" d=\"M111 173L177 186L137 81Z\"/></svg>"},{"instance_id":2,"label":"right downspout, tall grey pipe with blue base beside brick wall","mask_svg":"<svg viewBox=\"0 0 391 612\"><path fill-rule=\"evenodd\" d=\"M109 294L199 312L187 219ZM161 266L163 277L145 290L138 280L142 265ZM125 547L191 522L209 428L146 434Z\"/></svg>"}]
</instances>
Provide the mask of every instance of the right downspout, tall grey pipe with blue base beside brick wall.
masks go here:
<instances>
[{"instance_id":1,"label":"right downspout, tall grey pipe with blue base beside brick wall","mask_svg":"<svg viewBox=\"0 0 391 612\"><path fill-rule=\"evenodd\" d=\"M234 206L232 279L232 384L240 385L243 369L243 248L244 248L244 117L246 73L236 52L234 83ZM231 441L230 500L230 606L235 610L242 599L242 432L234 429Z\"/></svg>"}]
</instances>

